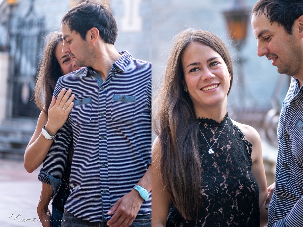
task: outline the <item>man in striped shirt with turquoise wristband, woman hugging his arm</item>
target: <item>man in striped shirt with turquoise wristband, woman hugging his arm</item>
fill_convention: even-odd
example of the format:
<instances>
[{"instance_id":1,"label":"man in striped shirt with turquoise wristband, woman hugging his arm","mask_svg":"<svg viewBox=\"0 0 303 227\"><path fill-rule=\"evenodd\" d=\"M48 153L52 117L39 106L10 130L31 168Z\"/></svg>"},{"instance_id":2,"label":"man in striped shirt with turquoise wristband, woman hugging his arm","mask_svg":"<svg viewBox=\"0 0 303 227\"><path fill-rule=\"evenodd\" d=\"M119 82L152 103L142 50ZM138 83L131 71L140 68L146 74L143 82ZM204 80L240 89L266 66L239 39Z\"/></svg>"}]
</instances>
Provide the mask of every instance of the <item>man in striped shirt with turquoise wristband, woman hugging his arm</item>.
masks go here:
<instances>
[{"instance_id":1,"label":"man in striped shirt with turquoise wristband, woman hugging his arm","mask_svg":"<svg viewBox=\"0 0 303 227\"><path fill-rule=\"evenodd\" d=\"M61 32L63 52L85 68L58 79L55 97L72 89L74 106L65 125L48 132L56 138L38 178L54 198L73 138L62 227L151 226L151 63L116 51L115 19L98 2L68 11Z\"/></svg>"}]
</instances>

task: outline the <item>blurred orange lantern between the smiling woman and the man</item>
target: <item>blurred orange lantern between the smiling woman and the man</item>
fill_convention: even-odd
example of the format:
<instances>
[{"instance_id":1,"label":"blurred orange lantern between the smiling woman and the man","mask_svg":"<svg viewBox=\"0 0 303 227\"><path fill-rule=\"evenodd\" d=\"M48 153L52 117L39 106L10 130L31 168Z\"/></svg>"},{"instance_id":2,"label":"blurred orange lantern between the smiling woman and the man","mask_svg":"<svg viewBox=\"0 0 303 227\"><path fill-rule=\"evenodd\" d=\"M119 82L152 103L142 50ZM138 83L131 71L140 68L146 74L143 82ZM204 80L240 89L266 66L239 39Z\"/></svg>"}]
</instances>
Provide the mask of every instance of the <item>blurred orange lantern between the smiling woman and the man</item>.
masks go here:
<instances>
[{"instance_id":1,"label":"blurred orange lantern between the smiling woman and the man","mask_svg":"<svg viewBox=\"0 0 303 227\"><path fill-rule=\"evenodd\" d=\"M231 39L234 40L236 44L241 45L247 35L247 26L250 15L250 11L245 6L244 0L230 1L229 7L223 14Z\"/></svg>"}]
</instances>

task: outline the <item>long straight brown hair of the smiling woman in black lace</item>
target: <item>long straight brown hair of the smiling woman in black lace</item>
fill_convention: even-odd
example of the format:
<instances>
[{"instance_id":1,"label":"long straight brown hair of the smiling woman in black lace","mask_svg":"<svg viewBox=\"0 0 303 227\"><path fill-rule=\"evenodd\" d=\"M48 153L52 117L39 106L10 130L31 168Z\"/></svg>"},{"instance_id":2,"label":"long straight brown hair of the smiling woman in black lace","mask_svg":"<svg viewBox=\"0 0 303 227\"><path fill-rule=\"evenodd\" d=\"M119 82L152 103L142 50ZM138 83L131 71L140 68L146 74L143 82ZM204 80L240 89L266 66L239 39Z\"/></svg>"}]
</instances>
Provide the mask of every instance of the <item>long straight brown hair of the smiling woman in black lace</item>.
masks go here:
<instances>
[{"instance_id":1,"label":"long straight brown hair of the smiling woman in black lace","mask_svg":"<svg viewBox=\"0 0 303 227\"><path fill-rule=\"evenodd\" d=\"M166 66L164 83L153 105L153 130L160 150L156 165L171 202L185 219L197 219L201 208L201 160L198 120L191 98L184 91L181 58L188 44L200 42L217 52L233 81L232 61L222 40L207 31L186 29L175 37ZM228 95L227 94L227 95Z\"/></svg>"}]
</instances>

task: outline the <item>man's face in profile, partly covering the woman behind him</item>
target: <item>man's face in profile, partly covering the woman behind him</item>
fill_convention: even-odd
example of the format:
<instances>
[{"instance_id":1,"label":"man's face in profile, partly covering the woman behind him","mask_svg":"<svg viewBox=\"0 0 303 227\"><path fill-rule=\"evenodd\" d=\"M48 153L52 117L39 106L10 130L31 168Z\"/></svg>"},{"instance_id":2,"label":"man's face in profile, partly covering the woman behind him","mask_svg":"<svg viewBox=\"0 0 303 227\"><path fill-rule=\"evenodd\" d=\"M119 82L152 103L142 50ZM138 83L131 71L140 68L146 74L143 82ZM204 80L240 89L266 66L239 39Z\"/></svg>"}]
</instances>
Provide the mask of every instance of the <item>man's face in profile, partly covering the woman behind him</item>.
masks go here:
<instances>
[{"instance_id":1,"label":"man's face in profile, partly covering the woman behind him","mask_svg":"<svg viewBox=\"0 0 303 227\"><path fill-rule=\"evenodd\" d=\"M67 24L61 25L61 33L63 38L62 52L68 52L69 56L76 65L82 67L91 66L89 55L89 44L87 40L83 40L76 31L71 31Z\"/></svg>"}]
</instances>

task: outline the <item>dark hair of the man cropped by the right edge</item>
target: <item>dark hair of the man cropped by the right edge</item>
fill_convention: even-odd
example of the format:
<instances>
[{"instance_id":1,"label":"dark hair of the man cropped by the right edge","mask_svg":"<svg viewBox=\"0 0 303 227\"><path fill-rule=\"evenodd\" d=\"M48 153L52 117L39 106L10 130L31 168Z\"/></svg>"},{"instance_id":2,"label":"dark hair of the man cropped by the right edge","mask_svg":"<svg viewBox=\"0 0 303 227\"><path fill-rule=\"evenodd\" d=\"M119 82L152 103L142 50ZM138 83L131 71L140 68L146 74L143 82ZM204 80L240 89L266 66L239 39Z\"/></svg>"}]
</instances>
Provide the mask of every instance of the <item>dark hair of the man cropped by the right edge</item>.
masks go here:
<instances>
[{"instance_id":1,"label":"dark hair of the man cropped by the right edge","mask_svg":"<svg viewBox=\"0 0 303 227\"><path fill-rule=\"evenodd\" d=\"M302 0L259 0L252 8L251 16L263 13L269 21L278 22L291 35L295 20L303 15Z\"/></svg>"}]
</instances>

